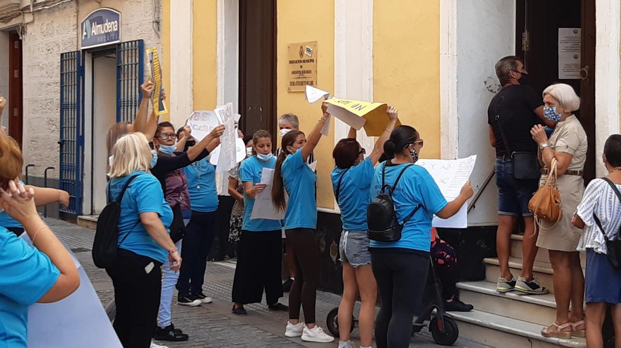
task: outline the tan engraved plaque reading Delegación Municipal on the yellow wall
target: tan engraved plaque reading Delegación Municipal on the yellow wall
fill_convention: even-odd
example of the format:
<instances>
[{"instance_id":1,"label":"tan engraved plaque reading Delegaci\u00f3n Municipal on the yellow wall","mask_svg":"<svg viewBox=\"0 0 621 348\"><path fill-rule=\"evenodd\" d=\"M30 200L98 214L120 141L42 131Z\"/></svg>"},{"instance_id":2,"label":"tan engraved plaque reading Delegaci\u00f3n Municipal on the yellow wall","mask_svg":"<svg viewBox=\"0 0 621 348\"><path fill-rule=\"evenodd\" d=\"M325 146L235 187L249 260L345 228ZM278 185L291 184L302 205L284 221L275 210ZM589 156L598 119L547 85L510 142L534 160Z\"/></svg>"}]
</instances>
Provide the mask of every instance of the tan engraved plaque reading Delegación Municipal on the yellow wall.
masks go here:
<instances>
[{"instance_id":1,"label":"tan engraved plaque reading Delegaci\u00f3n Municipal on the yellow wall","mask_svg":"<svg viewBox=\"0 0 621 348\"><path fill-rule=\"evenodd\" d=\"M287 91L304 92L306 86L317 87L317 42L289 43Z\"/></svg>"}]
</instances>

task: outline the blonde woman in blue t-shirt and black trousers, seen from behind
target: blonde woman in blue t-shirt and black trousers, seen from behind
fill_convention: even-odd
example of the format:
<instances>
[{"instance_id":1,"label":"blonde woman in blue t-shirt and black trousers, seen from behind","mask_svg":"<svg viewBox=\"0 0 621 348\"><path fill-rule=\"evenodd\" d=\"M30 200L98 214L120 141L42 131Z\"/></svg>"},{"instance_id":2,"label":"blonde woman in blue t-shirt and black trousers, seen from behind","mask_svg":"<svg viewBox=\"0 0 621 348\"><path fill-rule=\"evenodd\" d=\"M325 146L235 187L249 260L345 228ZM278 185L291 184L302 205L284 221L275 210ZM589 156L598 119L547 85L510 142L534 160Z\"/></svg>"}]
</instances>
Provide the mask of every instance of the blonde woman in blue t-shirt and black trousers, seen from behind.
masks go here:
<instances>
[{"instance_id":1,"label":"blonde woman in blue t-shirt and black trousers, seen from behind","mask_svg":"<svg viewBox=\"0 0 621 348\"><path fill-rule=\"evenodd\" d=\"M168 235L173 211L160 182L148 172L153 154L142 133L121 136L112 156L106 188L109 202L127 187L120 201L119 252L106 269L114 285L114 329L124 347L147 348L160 306L160 267L164 262L170 262L172 270L181 266L181 256Z\"/></svg>"}]
</instances>

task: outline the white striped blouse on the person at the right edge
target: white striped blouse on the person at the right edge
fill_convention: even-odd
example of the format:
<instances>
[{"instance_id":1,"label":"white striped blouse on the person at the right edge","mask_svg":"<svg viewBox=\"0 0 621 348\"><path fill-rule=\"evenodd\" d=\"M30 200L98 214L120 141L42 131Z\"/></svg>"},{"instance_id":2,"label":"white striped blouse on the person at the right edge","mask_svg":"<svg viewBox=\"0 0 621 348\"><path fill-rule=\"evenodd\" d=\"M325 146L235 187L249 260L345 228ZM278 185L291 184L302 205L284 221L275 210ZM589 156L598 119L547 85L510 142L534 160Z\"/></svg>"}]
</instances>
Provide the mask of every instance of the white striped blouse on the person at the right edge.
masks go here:
<instances>
[{"instance_id":1,"label":"white striped blouse on the person at the right edge","mask_svg":"<svg viewBox=\"0 0 621 348\"><path fill-rule=\"evenodd\" d=\"M621 185L617 184L617 189L621 190ZM578 251L591 248L599 254L606 254L604 234L597 227L593 213L599 218L608 239L616 239L621 226L621 202L617 194L603 179L593 179L584 190L577 213L585 225Z\"/></svg>"}]
</instances>

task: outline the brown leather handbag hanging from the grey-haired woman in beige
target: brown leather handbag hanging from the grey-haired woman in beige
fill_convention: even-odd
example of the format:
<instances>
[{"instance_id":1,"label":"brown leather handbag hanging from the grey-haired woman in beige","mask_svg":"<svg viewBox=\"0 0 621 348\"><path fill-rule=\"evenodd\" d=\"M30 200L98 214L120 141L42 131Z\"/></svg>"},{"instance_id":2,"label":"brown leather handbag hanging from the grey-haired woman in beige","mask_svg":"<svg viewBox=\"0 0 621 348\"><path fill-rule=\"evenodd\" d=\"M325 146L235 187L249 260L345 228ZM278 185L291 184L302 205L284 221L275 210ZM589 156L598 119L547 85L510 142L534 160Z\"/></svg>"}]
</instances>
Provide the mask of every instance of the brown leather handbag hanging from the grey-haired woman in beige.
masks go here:
<instances>
[{"instance_id":1,"label":"brown leather handbag hanging from the grey-haired woman in beige","mask_svg":"<svg viewBox=\"0 0 621 348\"><path fill-rule=\"evenodd\" d=\"M541 226L541 220L558 223L563 218L561 194L556 185L556 158L552 159L550 173L543 185L537 189L528 202L528 210L535 215L535 224Z\"/></svg>"}]
</instances>

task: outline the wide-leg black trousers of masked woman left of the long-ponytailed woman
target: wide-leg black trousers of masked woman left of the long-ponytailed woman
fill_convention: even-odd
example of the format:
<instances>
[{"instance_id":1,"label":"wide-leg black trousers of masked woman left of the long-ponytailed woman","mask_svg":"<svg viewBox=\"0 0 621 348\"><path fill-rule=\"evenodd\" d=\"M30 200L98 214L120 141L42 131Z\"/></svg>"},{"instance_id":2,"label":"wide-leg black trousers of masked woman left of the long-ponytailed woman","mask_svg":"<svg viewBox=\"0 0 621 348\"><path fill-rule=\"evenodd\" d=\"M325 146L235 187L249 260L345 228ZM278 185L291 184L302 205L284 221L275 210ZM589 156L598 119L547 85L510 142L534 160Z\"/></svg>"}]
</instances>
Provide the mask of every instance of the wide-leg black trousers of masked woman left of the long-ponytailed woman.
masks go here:
<instances>
[{"instance_id":1,"label":"wide-leg black trousers of masked woman left of the long-ponytailed woman","mask_svg":"<svg viewBox=\"0 0 621 348\"><path fill-rule=\"evenodd\" d=\"M242 230L239 241L237 268L233 280L233 302L245 305L260 303L265 289L268 305L283 297L281 269L282 233L276 231L253 232Z\"/></svg>"}]
</instances>

